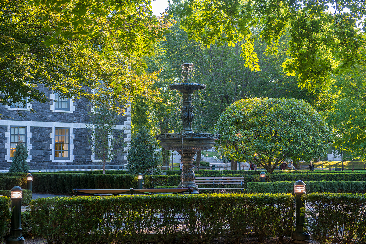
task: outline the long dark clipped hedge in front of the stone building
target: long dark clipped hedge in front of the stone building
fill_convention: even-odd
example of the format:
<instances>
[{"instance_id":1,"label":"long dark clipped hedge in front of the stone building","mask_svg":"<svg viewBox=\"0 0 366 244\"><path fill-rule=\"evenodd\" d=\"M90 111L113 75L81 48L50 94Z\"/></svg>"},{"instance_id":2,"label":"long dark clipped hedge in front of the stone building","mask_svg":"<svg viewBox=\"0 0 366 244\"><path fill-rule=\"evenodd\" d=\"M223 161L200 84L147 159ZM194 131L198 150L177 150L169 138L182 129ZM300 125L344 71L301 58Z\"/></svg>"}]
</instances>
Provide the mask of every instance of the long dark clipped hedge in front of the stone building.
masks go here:
<instances>
[{"instance_id":1,"label":"long dark clipped hedge in front of the stone building","mask_svg":"<svg viewBox=\"0 0 366 244\"><path fill-rule=\"evenodd\" d=\"M70 194L78 189L137 188L137 175L37 173L33 175L33 192Z\"/></svg>"}]
</instances>

